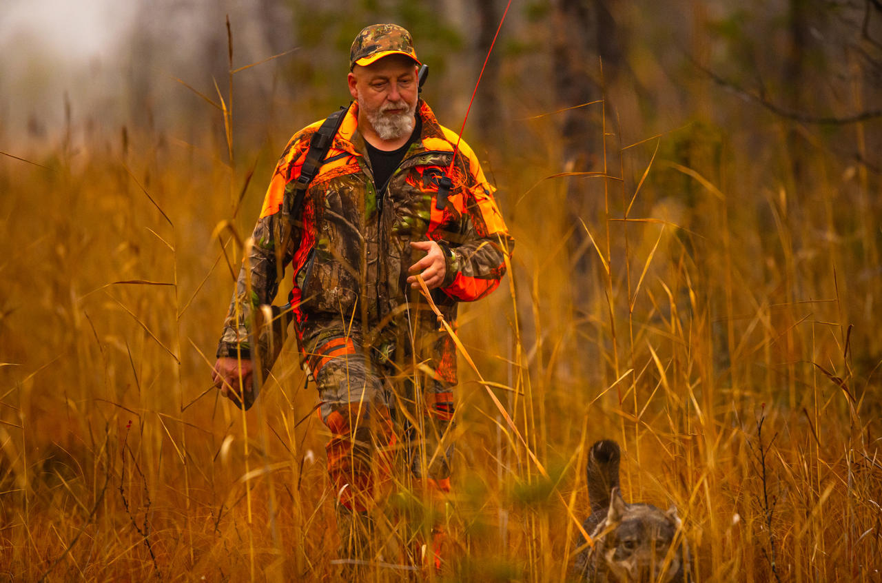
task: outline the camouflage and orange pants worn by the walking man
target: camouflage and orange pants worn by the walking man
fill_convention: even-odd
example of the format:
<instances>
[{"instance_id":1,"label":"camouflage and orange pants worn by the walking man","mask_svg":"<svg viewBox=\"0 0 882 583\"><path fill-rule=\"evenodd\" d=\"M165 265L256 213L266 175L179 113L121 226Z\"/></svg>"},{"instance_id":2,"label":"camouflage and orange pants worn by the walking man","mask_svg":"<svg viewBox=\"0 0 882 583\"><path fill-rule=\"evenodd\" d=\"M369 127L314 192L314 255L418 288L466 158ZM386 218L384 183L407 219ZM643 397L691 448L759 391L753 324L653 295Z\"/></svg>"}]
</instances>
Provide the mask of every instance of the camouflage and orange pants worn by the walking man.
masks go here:
<instances>
[{"instance_id":1,"label":"camouflage and orange pants worn by the walking man","mask_svg":"<svg viewBox=\"0 0 882 583\"><path fill-rule=\"evenodd\" d=\"M450 490L452 384L417 361L423 341L365 346L342 321L303 338L318 385L318 414L330 430L328 473L340 505L366 512L389 490ZM408 362L409 361L409 362Z\"/></svg>"}]
</instances>

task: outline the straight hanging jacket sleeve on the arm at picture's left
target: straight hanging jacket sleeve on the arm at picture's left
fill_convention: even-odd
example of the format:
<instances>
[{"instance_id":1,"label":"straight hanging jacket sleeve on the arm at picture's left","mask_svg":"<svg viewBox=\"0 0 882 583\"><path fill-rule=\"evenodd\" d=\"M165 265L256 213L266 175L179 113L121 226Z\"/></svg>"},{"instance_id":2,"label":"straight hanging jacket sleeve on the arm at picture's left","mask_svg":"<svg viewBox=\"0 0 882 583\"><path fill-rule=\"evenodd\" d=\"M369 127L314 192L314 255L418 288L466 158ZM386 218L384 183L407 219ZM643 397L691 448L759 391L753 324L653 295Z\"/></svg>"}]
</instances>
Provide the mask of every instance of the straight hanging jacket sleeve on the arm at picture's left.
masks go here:
<instances>
[{"instance_id":1,"label":"straight hanging jacket sleeve on the arm at picture's left","mask_svg":"<svg viewBox=\"0 0 882 583\"><path fill-rule=\"evenodd\" d=\"M282 212L282 201L292 160L303 153L297 147L302 143L300 134L292 138L273 172L260 217L246 244L246 255L218 343L218 357L251 356L254 338L250 332L260 318L260 307L273 303L285 267L294 257L299 233Z\"/></svg>"}]
</instances>

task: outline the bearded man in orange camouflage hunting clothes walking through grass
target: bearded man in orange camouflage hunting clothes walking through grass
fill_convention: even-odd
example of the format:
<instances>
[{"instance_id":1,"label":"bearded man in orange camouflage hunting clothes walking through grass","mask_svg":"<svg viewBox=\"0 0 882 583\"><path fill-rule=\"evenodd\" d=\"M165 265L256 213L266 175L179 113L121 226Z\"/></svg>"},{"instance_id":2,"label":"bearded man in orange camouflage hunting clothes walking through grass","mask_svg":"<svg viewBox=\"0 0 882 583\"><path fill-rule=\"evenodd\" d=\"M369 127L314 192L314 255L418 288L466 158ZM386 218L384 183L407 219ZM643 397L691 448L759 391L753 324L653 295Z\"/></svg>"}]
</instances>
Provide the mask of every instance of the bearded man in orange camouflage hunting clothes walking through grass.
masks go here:
<instances>
[{"instance_id":1,"label":"bearded man in orange camouflage hunting clothes walking through grass","mask_svg":"<svg viewBox=\"0 0 882 583\"><path fill-rule=\"evenodd\" d=\"M400 26L368 26L355 38L355 101L290 217L285 198L321 123L297 132L282 153L213 373L230 399L253 399L253 379L272 366L286 316L273 312L274 327L260 322L291 265L286 312L332 434L328 472L350 557L375 552L365 550L375 527L367 517L396 468L407 467L398 486L450 488L456 354L420 280L453 323L458 302L497 288L513 244L475 154L419 99L420 65ZM445 177L451 183L439 194ZM250 342L250 333L259 339Z\"/></svg>"}]
</instances>

